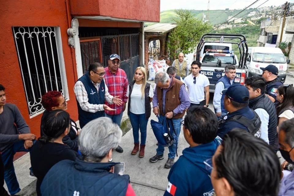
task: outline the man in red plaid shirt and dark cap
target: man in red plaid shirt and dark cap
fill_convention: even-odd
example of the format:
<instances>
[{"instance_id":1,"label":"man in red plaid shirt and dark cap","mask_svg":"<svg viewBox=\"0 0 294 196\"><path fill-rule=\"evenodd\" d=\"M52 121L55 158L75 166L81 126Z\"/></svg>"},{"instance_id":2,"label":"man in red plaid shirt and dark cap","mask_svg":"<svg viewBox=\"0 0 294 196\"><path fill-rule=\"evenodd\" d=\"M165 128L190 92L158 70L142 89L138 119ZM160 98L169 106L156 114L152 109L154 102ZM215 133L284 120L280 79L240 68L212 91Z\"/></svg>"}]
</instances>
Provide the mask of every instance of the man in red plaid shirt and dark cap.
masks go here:
<instances>
[{"instance_id":1,"label":"man in red plaid shirt and dark cap","mask_svg":"<svg viewBox=\"0 0 294 196\"><path fill-rule=\"evenodd\" d=\"M123 111L126 109L126 102L128 101L128 97L126 96L126 91L129 85L129 81L126 76L126 72L119 68L120 66L120 57L117 54L110 55L108 60L108 67L104 68L105 70L105 84L107 85L108 92L112 96L119 96L120 99L123 100L122 105L109 104L105 102L105 104L116 111L105 111L105 116L112 119L113 123L116 123L120 126ZM122 153L123 149L118 146L115 149L117 152Z\"/></svg>"}]
</instances>

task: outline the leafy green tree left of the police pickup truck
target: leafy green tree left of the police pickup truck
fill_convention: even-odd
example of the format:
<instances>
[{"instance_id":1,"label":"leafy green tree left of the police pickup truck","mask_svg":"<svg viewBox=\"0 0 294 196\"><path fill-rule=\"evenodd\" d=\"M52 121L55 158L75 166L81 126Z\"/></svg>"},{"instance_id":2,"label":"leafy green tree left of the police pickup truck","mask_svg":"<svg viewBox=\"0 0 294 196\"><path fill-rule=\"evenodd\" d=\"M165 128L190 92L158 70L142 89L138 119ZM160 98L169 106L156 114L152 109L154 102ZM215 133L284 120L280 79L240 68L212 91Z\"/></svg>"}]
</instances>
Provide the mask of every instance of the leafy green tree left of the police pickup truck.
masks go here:
<instances>
[{"instance_id":1,"label":"leafy green tree left of the police pickup truck","mask_svg":"<svg viewBox=\"0 0 294 196\"><path fill-rule=\"evenodd\" d=\"M175 10L179 18L174 19L177 27L169 34L167 47L170 57L175 58L179 52L189 54L194 51L204 33L212 26L195 18L190 10Z\"/></svg>"}]
</instances>

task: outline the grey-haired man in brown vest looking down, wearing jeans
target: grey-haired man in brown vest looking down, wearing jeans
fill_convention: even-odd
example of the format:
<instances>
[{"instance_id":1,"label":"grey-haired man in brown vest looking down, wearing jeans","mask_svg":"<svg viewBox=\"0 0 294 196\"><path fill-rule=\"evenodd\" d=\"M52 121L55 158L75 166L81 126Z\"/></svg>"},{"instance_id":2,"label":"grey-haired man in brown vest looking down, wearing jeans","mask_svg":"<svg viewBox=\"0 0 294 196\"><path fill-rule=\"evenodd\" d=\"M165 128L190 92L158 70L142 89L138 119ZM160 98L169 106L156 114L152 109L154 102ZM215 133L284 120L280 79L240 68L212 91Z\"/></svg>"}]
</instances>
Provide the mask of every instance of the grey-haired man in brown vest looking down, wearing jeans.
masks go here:
<instances>
[{"instance_id":1,"label":"grey-haired man in brown vest looking down, wearing jeans","mask_svg":"<svg viewBox=\"0 0 294 196\"><path fill-rule=\"evenodd\" d=\"M156 116L159 115L159 123L164 121L164 117L168 119L169 127L171 127L171 135L174 138L173 144L168 147L168 160L164 165L165 168L169 169L174 164L181 130L181 120L186 108L190 107L190 99L184 83L169 76L167 73L157 73L154 81L156 83L156 89L152 101L153 113ZM163 153L164 146L158 143L156 155L150 158L150 162L155 163L158 160L164 159Z\"/></svg>"}]
</instances>

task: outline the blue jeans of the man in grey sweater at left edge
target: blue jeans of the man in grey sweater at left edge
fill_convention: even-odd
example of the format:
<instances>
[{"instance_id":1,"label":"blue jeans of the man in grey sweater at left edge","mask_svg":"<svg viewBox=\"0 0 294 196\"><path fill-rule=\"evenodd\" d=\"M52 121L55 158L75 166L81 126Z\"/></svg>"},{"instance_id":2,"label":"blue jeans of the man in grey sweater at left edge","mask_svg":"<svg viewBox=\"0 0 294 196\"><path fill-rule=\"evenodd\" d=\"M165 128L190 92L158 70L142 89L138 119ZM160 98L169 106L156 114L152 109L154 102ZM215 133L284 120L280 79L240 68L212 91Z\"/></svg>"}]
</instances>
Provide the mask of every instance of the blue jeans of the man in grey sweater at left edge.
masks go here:
<instances>
[{"instance_id":1,"label":"blue jeans of the man in grey sweater at left edge","mask_svg":"<svg viewBox=\"0 0 294 196\"><path fill-rule=\"evenodd\" d=\"M17 182L17 178L14 172L13 156L17 152L30 151L30 149L25 149L24 143L25 143L25 140L20 140L14 143L9 149L6 149L1 154L3 164L4 164L4 179L5 179L8 191L11 195L18 193L21 190L19 188L19 184Z\"/></svg>"}]
</instances>

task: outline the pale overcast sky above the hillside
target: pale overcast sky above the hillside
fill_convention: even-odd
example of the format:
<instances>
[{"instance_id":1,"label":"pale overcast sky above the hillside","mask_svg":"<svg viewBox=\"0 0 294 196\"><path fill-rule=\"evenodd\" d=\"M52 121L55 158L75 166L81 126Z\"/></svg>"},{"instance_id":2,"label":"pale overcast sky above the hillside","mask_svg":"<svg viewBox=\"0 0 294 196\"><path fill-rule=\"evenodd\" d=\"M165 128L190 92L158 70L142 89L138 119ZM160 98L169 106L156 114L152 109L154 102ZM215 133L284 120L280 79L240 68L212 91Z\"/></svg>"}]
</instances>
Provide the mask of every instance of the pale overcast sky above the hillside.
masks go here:
<instances>
[{"instance_id":1,"label":"pale overcast sky above the hillside","mask_svg":"<svg viewBox=\"0 0 294 196\"><path fill-rule=\"evenodd\" d=\"M244 9L249 6L256 0L210 0L209 2L209 10L214 9ZM266 2L266 0L259 0L254 5L249 8L256 8L262 3ZM279 6L285 1L282 0L268 0L264 6ZM294 0L288 0L288 2L293 3ZM207 9L208 0L160 0L160 11L168 10L168 9L196 9L196 10L206 10ZM248 9L249 9L248 8Z\"/></svg>"}]
</instances>

